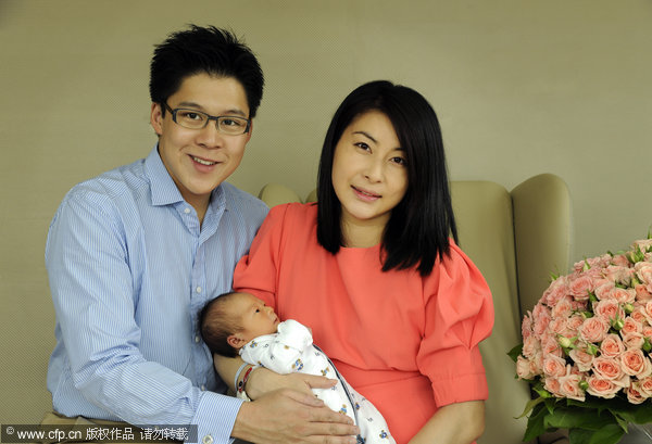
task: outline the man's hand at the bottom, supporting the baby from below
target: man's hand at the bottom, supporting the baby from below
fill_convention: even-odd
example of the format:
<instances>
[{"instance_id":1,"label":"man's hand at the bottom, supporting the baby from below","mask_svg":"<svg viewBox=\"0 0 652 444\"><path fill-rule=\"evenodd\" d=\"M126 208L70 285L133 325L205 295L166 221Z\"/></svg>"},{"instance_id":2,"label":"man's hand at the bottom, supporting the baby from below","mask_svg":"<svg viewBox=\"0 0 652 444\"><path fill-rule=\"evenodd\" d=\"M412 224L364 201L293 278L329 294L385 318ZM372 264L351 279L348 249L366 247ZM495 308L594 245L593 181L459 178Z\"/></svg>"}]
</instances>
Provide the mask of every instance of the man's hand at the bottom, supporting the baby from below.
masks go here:
<instances>
[{"instance_id":1,"label":"man's hand at the bottom, supporting the baby from below","mask_svg":"<svg viewBox=\"0 0 652 444\"><path fill-rule=\"evenodd\" d=\"M310 394L281 389L243 403L233 437L259 444L355 443L351 418L333 411Z\"/></svg>"}]
</instances>

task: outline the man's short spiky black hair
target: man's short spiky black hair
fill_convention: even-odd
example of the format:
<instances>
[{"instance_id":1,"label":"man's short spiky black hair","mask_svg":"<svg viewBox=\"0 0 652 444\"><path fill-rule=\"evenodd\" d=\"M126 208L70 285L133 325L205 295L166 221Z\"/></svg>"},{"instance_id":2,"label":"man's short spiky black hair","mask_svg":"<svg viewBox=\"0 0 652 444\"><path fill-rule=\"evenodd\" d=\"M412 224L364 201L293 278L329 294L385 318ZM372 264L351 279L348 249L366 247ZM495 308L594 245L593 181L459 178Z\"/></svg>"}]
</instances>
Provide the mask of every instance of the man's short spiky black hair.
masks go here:
<instances>
[{"instance_id":1,"label":"man's short spiky black hair","mask_svg":"<svg viewBox=\"0 0 652 444\"><path fill-rule=\"evenodd\" d=\"M156 46L150 64L152 102L162 105L186 77L201 73L238 80L247 94L249 118L255 117L265 84L259 61L233 33L214 26L190 25Z\"/></svg>"}]
</instances>

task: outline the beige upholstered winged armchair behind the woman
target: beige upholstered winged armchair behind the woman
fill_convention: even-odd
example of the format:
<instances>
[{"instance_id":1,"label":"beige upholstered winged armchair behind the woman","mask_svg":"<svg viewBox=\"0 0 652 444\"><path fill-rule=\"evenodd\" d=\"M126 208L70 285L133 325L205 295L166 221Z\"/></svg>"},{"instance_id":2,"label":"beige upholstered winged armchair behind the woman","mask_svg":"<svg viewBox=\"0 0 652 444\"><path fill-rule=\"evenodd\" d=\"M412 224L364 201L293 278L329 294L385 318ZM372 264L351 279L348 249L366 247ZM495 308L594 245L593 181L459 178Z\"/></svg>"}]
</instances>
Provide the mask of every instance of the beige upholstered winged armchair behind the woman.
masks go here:
<instances>
[{"instance_id":1,"label":"beige upholstered winged armchair behind the woman","mask_svg":"<svg viewBox=\"0 0 652 444\"><path fill-rule=\"evenodd\" d=\"M493 333L480 346L489 401L478 443L521 443L526 420L514 418L529 390L514 379L506 352L521 341L522 313L548 287L550 271L568 269L570 198L564 181L550 174L535 176L512 192L489 181L453 181L451 190L460 244L487 279L496 307ZM260 198L271 206L302 201L278 183L264 187ZM314 200L313 191L306 201Z\"/></svg>"}]
</instances>

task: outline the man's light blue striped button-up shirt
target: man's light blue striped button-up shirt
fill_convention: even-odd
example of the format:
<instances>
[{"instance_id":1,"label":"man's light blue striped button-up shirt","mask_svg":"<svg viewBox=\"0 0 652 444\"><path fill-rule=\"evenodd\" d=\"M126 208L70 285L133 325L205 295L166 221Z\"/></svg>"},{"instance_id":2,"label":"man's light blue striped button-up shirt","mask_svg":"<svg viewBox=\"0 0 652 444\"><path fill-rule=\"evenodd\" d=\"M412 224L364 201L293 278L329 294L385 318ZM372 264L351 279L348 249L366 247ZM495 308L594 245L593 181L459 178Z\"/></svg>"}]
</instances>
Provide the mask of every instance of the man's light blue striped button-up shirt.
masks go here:
<instances>
[{"instance_id":1,"label":"man's light blue striped button-up shirt","mask_svg":"<svg viewBox=\"0 0 652 444\"><path fill-rule=\"evenodd\" d=\"M227 443L241 402L226 396L198 330L230 290L267 207L222 183L200 227L154 148L75 186L50 225L46 266L57 313L48 369L66 416L197 424ZM211 440L208 440L211 441Z\"/></svg>"}]
</instances>

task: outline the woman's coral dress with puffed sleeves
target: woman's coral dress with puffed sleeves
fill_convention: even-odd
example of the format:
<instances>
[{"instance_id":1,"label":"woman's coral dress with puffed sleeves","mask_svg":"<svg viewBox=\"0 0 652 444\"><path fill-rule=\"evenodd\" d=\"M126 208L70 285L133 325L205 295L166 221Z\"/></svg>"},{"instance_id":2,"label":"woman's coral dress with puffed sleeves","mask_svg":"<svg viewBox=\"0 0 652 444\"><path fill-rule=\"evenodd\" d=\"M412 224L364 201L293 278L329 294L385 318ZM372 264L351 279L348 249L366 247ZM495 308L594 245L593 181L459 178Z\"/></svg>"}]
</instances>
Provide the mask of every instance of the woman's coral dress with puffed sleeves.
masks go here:
<instances>
[{"instance_id":1,"label":"woman's coral dress with puffed sleeves","mask_svg":"<svg viewBox=\"0 0 652 444\"><path fill-rule=\"evenodd\" d=\"M451 242L450 256L425 278L415 269L383 272L378 245L324 250L316 214L314 204L272 208L236 267L234 289L310 327L399 444L438 407L486 399L478 343L491 332L493 305L471 259Z\"/></svg>"}]
</instances>

